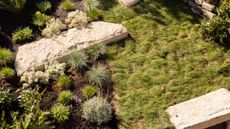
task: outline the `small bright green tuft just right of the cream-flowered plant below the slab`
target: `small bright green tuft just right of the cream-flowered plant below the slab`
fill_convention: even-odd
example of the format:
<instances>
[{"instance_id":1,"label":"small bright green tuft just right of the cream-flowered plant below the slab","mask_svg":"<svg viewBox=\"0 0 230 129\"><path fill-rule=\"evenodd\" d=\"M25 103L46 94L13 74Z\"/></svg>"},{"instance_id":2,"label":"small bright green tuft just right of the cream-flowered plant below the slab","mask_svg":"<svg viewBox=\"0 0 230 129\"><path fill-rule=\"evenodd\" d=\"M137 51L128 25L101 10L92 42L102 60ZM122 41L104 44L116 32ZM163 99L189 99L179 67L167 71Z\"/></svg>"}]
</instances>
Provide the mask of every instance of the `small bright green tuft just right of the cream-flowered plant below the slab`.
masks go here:
<instances>
[{"instance_id":1,"label":"small bright green tuft just right of the cream-flowered plant below the slab","mask_svg":"<svg viewBox=\"0 0 230 129\"><path fill-rule=\"evenodd\" d=\"M60 76L57 80L57 85L62 89L68 89L71 85L71 79L68 76Z\"/></svg>"}]
</instances>

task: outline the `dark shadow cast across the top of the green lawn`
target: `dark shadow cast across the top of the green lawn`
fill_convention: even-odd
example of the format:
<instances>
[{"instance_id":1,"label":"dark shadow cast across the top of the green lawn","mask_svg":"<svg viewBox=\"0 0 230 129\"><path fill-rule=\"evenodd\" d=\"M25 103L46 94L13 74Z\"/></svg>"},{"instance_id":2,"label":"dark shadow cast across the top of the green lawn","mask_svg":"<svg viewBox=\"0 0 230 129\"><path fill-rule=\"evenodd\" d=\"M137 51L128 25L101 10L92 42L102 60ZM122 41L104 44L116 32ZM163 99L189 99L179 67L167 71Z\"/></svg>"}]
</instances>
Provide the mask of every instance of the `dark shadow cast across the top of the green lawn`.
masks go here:
<instances>
[{"instance_id":1,"label":"dark shadow cast across the top of the green lawn","mask_svg":"<svg viewBox=\"0 0 230 129\"><path fill-rule=\"evenodd\" d=\"M190 10L190 8L181 0L142 0L133 9L137 13L151 13L152 19L159 24L165 25L165 15L162 15L161 9L165 7L168 15L176 20L189 20L191 23L200 23L199 17ZM186 17L185 16L189 16ZM148 17L146 17L148 18Z\"/></svg>"}]
</instances>

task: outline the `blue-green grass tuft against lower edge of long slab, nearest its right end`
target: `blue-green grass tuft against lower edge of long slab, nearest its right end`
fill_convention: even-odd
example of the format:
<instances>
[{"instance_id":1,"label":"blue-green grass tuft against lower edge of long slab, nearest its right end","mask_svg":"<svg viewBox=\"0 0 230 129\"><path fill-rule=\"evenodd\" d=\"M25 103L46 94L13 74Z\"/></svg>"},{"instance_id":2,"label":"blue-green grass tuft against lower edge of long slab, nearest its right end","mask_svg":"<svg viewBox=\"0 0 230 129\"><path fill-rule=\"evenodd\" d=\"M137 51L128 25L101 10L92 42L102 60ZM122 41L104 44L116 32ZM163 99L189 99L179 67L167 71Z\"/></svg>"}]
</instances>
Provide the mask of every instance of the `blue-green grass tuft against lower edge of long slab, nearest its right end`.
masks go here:
<instances>
[{"instance_id":1,"label":"blue-green grass tuft against lower edge of long slab, nearest its right end","mask_svg":"<svg viewBox=\"0 0 230 129\"><path fill-rule=\"evenodd\" d=\"M90 55L93 61L96 61L100 57L106 55L107 50L105 44L101 43L101 44L91 46L86 50L86 53Z\"/></svg>"}]
</instances>

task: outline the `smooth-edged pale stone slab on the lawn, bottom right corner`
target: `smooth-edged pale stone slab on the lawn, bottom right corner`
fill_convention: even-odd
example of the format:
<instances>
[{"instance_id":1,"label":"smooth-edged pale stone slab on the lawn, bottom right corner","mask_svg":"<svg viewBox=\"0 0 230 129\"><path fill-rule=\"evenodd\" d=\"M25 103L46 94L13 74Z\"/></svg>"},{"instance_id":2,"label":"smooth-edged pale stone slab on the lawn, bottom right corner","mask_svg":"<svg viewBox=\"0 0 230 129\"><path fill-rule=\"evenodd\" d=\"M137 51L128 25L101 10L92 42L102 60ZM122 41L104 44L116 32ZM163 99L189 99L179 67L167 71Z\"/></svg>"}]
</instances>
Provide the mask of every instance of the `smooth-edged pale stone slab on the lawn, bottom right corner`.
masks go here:
<instances>
[{"instance_id":1,"label":"smooth-edged pale stone slab on the lawn, bottom right corner","mask_svg":"<svg viewBox=\"0 0 230 129\"><path fill-rule=\"evenodd\" d=\"M170 106L166 112L176 129L204 129L230 120L230 92L224 88Z\"/></svg>"}]
</instances>

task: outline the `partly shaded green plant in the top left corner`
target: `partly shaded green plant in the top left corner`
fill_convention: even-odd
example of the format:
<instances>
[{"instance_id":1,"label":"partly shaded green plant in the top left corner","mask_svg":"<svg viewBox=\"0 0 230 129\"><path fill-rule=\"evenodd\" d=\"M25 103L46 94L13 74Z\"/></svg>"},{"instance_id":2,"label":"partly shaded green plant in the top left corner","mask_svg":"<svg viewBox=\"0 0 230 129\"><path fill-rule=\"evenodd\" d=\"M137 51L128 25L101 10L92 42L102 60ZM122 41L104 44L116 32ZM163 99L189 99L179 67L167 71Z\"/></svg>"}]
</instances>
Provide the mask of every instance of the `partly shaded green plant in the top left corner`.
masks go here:
<instances>
[{"instance_id":1,"label":"partly shaded green plant in the top left corner","mask_svg":"<svg viewBox=\"0 0 230 129\"><path fill-rule=\"evenodd\" d=\"M0 0L0 9L12 13L19 13L27 0Z\"/></svg>"}]
</instances>

